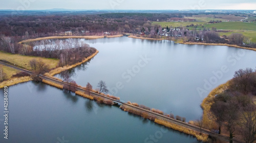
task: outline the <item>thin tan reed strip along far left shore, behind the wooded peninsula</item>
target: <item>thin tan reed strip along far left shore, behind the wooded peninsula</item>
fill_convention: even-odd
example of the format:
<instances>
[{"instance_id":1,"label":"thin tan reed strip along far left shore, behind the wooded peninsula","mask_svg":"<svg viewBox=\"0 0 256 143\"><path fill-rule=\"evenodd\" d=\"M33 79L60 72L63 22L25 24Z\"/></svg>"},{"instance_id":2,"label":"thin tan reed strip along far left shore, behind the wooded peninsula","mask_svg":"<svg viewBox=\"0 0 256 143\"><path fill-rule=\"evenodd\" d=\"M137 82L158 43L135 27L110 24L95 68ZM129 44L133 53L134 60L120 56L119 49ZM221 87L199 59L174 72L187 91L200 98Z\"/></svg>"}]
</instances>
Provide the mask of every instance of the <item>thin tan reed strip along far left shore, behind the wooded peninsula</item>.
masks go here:
<instances>
[{"instance_id":1,"label":"thin tan reed strip along far left shore, behind the wooded peninsula","mask_svg":"<svg viewBox=\"0 0 256 143\"><path fill-rule=\"evenodd\" d=\"M123 35L113 35L113 36L106 36L106 38L114 38L114 37L122 37ZM41 37L41 38L35 38L35 39L27 39L18 42L19 44L27 43L27 42L33 42L33 41L39 41L39 40L48 40L48 39L99 39L104 38L105 36L50 36L50 37Z\"/></svg>"}]
</instances>

